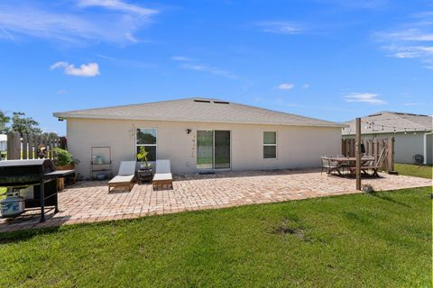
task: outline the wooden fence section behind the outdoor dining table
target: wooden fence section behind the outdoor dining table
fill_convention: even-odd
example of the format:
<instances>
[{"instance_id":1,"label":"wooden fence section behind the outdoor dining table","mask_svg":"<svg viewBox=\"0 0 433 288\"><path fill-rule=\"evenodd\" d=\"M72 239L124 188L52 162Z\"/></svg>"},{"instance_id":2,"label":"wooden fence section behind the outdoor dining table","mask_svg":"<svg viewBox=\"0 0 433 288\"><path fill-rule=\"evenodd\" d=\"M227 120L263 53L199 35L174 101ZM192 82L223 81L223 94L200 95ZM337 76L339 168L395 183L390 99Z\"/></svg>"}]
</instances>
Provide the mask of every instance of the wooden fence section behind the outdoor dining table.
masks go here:
<instances>
[{"instance_id":1,"label":"wooden fence section behind the outdoor dining table","mask_svg":"<svg viewBox=\"0 0 433 288\"><path fill-rule=\"evenodd\" d=\"M355 157L355 139L342 139L341 151L345 157ZM374 164L384 171L394 171L394 138L362 139L364 156L374 157Z\"/></svg>"}]
</instances>

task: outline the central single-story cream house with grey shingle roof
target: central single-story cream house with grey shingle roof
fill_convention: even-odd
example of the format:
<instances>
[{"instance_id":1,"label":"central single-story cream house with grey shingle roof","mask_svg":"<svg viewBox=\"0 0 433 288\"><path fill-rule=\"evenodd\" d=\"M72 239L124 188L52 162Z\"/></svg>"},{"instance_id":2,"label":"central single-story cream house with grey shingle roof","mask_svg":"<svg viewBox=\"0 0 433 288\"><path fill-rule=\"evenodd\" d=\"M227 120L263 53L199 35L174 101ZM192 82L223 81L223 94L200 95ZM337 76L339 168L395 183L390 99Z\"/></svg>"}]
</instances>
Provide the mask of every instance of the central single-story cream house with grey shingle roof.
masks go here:
<instances>
[{"instance_id":1,"label":"central single-story cream house with grey shingle roof","mask_svg":"<svg viewBox=\"0 0 433 288\"><path fill-rule=\"evenodd\" d=\"M91 147L111 148L112 170L135 159L170 159L176 174L320 166L320 156L341 150L343 125L240 103L189 98L71 112L68 148L90 174Z\"/></svg>"}]
</instances>

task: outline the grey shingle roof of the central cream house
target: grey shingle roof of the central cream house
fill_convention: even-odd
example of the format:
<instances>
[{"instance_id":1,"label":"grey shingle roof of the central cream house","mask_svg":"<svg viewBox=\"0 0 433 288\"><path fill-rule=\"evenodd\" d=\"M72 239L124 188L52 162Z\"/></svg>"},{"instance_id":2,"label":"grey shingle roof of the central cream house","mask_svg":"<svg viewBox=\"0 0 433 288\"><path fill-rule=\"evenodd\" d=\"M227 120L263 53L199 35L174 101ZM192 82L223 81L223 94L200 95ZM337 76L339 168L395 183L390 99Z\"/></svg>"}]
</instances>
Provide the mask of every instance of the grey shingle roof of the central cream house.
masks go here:
<instances>
[{"instance_id":1,"label":"grey shingle roof of the central cream house","mask_svg":"<svg viewBox=\"0 0 433 288\"><path fill-rule=\"evenodd\" d=\"M147 121L202 121L290 126L342 127L341 124L208 98L54 112L59 118L126 119Z\"/></svg>"}]
</instances>

